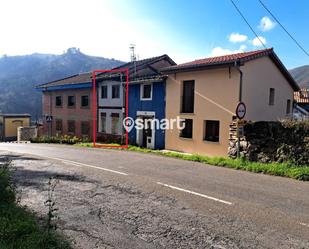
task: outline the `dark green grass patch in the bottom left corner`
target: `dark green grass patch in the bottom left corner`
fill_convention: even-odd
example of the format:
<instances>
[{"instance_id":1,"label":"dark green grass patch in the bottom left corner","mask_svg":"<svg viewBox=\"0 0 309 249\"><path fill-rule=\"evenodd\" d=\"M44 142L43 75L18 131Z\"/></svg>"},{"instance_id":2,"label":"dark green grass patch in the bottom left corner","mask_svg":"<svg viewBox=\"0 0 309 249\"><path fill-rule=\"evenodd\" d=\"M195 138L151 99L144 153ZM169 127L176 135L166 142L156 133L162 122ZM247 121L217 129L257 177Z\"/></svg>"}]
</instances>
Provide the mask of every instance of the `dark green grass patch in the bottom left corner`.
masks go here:
<instances>
[{"instance_id":1,"label":"dark green grass patch in the bottom left corner","mask_svg":"<svg viewBox=\"0 0 309 249\"><path fill-rule=\"evenodd\" d=\"M40 226L34 213L16 202L10 163L0 163L0 248L67 249L70 243L56 231Z\"/></svg>"}]
</instances>

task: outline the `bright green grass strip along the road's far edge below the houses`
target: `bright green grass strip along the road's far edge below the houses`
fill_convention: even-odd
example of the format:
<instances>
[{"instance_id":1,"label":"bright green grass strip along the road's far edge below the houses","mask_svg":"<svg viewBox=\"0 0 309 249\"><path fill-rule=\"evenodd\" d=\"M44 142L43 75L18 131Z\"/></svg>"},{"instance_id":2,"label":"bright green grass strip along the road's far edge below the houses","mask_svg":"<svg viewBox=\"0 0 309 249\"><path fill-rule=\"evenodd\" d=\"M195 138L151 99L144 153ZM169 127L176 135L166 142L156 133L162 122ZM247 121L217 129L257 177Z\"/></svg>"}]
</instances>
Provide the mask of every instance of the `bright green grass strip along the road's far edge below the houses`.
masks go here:
<instances>
[{"instance_id":1,"label":"bright green grass strip along the road's far edge below the houses","mask_svg":"<svg viewBox=\"0 0 309 249\"><path fill-rule=\"evenodd\" d=\"M115 145L115 144L113 144ZM76 146L93 147L92 143L79 143ZM129 151L137 151L143 153L153 153L161 156L179 158L182 160L201 162L205 164L233 168L238 170L251 171L255 173L263 173L268 175L276 175L289 177L302 181L309 181L309 166L297 166L292 163L260 163L250 162L244 159L231 159L224 157L208 157L199 154L184 154L170 151L151 150L129 145Z\"/></svg>"}]
</instances>

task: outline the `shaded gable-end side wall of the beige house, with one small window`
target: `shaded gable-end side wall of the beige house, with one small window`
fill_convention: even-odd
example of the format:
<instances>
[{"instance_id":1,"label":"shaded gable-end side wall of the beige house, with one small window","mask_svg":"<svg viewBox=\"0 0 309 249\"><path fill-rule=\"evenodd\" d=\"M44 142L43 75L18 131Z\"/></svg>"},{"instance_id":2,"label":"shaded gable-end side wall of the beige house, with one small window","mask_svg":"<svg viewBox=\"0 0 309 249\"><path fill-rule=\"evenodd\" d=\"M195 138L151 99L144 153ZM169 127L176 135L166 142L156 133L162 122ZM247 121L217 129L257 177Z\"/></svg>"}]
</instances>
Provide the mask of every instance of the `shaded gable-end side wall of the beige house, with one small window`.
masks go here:
<instances>
[{"instance_id":1,"label":"shaded gable-end side wall of the beige house, with one small window","mask_svg":"<svg viewBox=\"0 0 309 249\"><path fill-rule=\"evenodd\" d=\"M276 121L283 118L287 100L293 102L294 91L278 67L268 57L262 57L247 62L242 71L246 119ZM275 104L272 106L269 105L269 88L275 89Z\"/></svg>"}]
</instances>

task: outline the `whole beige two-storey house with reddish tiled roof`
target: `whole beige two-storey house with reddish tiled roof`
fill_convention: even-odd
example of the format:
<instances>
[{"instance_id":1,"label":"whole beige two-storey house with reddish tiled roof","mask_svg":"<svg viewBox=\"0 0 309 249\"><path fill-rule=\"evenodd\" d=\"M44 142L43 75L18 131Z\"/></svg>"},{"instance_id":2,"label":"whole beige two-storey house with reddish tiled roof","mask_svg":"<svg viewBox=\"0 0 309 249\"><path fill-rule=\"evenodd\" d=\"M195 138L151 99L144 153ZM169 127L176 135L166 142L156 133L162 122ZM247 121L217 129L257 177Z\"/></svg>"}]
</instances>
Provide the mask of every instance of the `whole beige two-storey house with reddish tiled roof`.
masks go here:
<instances>
[{"instance_id":1,"label":"whole beige two-storey house with reddish tiled roof","mask_svg":"<svg viewBox=\"0 0 309 249\"><path fill-rule=\"evenodd\" d=\"M271 121L292 112L298 85L273 49L212 57L162 70L166 118L184 119L183 130L165 133L166 149L226 156L229 125L236 106L246 104L245 120Z\"/></svg>"}]
</instances>

